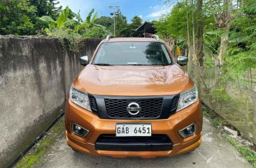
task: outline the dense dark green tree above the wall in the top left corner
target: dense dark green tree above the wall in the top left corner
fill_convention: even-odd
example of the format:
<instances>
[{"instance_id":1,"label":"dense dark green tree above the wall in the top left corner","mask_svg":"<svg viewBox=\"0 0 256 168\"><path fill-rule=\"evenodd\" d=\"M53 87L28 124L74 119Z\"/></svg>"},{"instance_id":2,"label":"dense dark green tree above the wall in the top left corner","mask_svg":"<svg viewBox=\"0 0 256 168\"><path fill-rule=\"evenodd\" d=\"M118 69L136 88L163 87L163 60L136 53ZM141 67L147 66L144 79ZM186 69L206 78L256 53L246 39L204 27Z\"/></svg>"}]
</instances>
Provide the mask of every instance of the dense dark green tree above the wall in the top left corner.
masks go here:
<instances>
[{"instance_id":1,"label":"dense dark green tree above the wall in the top left corner","mask_svg":"<svg viewBox=\"0 0 256 168\"><path fill-rule=\"evenodd\" d=\"M26 0L0 1L0 34L28 35L34 32L34 24L29 15L34 15L36 8ZM33 33L32 33L33 34Z\"/></svg>"}]
</instances>

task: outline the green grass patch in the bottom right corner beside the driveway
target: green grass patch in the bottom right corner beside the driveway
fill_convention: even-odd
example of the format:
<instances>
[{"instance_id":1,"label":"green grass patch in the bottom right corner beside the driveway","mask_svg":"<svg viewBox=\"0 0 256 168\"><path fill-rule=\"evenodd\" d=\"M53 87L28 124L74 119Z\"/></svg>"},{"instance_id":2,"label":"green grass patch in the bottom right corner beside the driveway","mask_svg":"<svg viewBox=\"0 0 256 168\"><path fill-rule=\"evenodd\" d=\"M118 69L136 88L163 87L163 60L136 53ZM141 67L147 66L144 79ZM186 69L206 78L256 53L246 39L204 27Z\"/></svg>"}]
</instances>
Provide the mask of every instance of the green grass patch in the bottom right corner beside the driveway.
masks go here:
<instances>
[{"instance_id":1,"label":"green grass patch in the bottom right corner beside the driveway","mask_svg":"<svg viewBox=\"0 0 256 168\"><path fill-rule=\"evenodd\" d=\"M256 168L256 152L255 151L250 149L249 146L243 146L242 144L240 144L239 142L236 142L236 140L230 137L226 137L226 139L227 139L227 142L232 144L232 146L234 146L234 148L236 148L236 150L239 151L239 153L241 153L241 155L243 155L246 158L246 160L248 160L248 162L250 162L250 164L253 165L254 168Z\"/></svg>"}]
</instances>

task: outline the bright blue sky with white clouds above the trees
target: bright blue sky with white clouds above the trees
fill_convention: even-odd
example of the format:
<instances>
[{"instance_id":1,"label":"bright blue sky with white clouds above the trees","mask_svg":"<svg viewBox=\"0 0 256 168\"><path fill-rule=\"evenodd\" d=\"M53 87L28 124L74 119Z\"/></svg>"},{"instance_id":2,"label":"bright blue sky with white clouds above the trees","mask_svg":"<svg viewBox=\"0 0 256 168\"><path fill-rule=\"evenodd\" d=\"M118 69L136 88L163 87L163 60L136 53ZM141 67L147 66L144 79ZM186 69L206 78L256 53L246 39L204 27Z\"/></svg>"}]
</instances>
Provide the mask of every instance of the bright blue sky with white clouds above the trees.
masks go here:
<instances>
[{"instance_id":1,"label":"bright blue sky with white clouds above the trees","mask_svg":"<svg viewBox=\"0 0 256 168\"><path fill-rule=\"evenodd\" d=\"M113 11L108 6L120 6L123 15L127 17L128 23L135 15L141 17L143 22L157 20L160 15L168 13L176 0L171 0L169 5L164 0L59 0L59 4L65 8L69 6L73 12L78 13L83 20L92 8L98 13L98 17L110 16Z\"/></svg>"}]
</instances>

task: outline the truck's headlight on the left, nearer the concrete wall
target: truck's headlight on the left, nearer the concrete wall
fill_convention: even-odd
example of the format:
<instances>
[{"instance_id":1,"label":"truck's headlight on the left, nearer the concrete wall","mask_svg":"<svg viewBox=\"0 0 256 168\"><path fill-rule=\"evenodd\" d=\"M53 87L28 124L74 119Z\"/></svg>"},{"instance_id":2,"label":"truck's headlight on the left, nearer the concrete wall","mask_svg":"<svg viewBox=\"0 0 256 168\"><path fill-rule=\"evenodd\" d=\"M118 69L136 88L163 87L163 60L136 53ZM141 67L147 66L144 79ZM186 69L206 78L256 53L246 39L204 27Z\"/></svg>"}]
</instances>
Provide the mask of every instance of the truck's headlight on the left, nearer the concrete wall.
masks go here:
<instances>
[{"instance_id":1,"label":"truck's headlight on the left, nearer the concrete wall","mask_svg":"<svg viewBox=\"0 0 256 168\"><path fill-rule=\"evenodd\" d=\"M73 86L71 86L71 89L70 89L70 92L69 92L69 98L76 105L79 105L80 107L83 107L83 108L92 112L87 93L84 93L82 91L78 91Z\"/></svg>"}]
</instances>

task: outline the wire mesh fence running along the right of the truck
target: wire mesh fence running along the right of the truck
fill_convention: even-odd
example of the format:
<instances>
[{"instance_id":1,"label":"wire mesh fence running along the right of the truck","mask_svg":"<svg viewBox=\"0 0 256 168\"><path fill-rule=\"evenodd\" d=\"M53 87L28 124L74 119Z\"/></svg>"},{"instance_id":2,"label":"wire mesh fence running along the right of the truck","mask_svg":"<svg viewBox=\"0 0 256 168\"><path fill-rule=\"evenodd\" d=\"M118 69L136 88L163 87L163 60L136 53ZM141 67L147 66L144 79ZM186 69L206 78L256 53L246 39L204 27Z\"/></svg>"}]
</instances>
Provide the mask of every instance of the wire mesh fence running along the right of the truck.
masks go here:
<instances>
[{"instance_id":1,"label":"wire mesh fence running along the right of the truck","mask_svg":"<svg viewBox=\"0 0 256 168\"><path fill-rule=\"evenodd\" d=\"M255 84L251 86L228 78L215 67L188 63L185 69L197 83L201 101L256 144Z\"/></svg>"}]
</instances>

